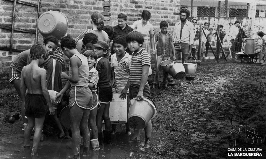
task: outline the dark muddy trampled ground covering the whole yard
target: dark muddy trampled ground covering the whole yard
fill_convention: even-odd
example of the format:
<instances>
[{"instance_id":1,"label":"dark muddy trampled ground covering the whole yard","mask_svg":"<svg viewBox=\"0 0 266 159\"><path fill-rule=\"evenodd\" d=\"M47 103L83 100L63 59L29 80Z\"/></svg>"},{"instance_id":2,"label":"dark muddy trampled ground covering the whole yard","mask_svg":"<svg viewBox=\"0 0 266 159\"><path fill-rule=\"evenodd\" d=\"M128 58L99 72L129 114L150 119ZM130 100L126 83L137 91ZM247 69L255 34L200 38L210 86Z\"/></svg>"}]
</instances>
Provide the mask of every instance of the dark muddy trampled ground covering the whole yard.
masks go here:
<instances>
[{"instance_id":1,"label":"dark muddy trampled ground covering the whole yard","mask_svg":"<svg viewBox=\"0 0 266 159\"><path fill-rule=\"evenodd\" d=\"M234 60L217 64L210 60L198 65L194 75L195 80L186 80L184 87L151 90L157 108L152 121L152 147L141 148L144 132L141 142L129 142L124 126L120 126L113 136L113 145L105 145L90 158L241 158L228 156L236 152L258 152L262 156L248 158L265 158L264 144L257 140L246 143L245 133L241 132L235 136L233 146L232 135L228 135L235 126L248 125L256 129L257 137L262 140L265 137L265 66ZM22 148L22 119L14 124L4 120L7 112L20 110L19 104L13 86L2 83L0 158L30 158L30 152ZM71 147L71 140L59 140L52 134L41 142L37 158L70 158ZM243 151L244 148L247 150Z\"/></svg>"}]
</instances>

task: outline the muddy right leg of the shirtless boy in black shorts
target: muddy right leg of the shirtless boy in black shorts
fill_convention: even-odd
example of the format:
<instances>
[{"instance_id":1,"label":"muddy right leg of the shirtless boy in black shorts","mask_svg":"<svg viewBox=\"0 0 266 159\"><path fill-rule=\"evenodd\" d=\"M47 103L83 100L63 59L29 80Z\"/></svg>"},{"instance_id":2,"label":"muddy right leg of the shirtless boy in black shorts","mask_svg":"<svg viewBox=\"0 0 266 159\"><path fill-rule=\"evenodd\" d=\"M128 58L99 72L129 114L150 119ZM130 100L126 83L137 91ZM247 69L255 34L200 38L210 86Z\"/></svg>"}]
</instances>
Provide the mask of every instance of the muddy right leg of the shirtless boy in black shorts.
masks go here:
<instances>
[{"instance_id":1,"label":"muddy right leg of the shirtless boy in black shorts","mask_svg":"<svg viewBox=\"0 0 266 159\"><path fill-rule=\"evenodd\" d=\"M31 155L38 155L37 149L42 135L44 119L45 116L40 118L35 118L35 132L33 136L33 146L32 146Z\"/></svg>"}]
</instances>

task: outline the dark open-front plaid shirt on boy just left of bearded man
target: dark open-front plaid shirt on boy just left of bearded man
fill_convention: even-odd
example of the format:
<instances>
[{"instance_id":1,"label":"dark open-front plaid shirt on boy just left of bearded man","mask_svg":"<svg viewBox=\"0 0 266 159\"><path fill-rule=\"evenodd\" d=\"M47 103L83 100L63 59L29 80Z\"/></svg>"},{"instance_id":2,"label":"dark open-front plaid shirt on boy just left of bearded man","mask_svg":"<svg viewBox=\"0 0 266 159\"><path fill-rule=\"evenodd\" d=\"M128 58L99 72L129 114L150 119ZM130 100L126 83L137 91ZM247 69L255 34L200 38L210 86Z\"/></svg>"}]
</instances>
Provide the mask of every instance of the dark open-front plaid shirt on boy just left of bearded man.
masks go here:
<instances>
[{"instance_id":1,"label":"dark open-front plaid shirt on boy just left of bearded man","mask_svg":"<svg viewBox=\"0 0 266 159\"><path fill-rule=\"evenodd\" d=\"M173 42L173 36L171 33L166 32L166 38L165 38L165 48L163 48L163 35L161 32L158 32L154 35L155 37L155 43L157 43L157 56L163 55L165 57L170 57L171 54L171 42ZM163 50L165 50L165 53L163 53Z\"/></svg>"}]
</instances>

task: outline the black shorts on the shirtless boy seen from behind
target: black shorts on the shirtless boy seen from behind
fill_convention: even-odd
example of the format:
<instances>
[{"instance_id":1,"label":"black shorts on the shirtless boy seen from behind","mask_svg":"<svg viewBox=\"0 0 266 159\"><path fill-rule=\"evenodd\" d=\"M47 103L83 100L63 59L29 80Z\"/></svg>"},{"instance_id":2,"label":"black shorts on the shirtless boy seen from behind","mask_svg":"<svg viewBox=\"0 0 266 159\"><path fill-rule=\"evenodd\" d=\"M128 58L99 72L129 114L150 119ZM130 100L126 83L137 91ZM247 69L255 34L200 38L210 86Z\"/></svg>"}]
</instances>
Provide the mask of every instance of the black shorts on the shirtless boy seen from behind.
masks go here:
<instances>
[{"instance_id":1,"label":"black shorts on the shirtless boy seen from behind","mask_svg":"<svg viewBox=\"0 0 266 159\"><path fill-rule=\"evenodd\" d=\"M47 103L42 94L26 94L25 116L41 118L46 115Z\"/></svg>"}]
</instances>

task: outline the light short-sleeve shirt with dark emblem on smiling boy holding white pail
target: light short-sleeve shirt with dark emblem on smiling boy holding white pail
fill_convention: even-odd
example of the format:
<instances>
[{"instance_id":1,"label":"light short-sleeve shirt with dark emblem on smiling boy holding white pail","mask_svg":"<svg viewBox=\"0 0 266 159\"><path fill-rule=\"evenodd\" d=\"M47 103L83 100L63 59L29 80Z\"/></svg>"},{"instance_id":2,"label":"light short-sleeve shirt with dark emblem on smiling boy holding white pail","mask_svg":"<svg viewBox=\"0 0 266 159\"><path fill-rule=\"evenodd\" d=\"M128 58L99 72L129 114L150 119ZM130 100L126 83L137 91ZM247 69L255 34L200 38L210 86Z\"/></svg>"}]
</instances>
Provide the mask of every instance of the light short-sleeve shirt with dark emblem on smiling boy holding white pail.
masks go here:
<instances>
[{"instance_id":1,"label":"light short-sleeve shirt with dark emblem on smiling boy holding white pail","mask_svg":"<svg viewBox=\"0 0 266 159\"><path fill-rule=\"evenodd\" d=\"M131 56L126 52L125 56L118 62L116 54L111 56L111 67L114 68L117 85L125 86L129 79L129 69L131 66Z\"/></svg>"}]
</instances>

